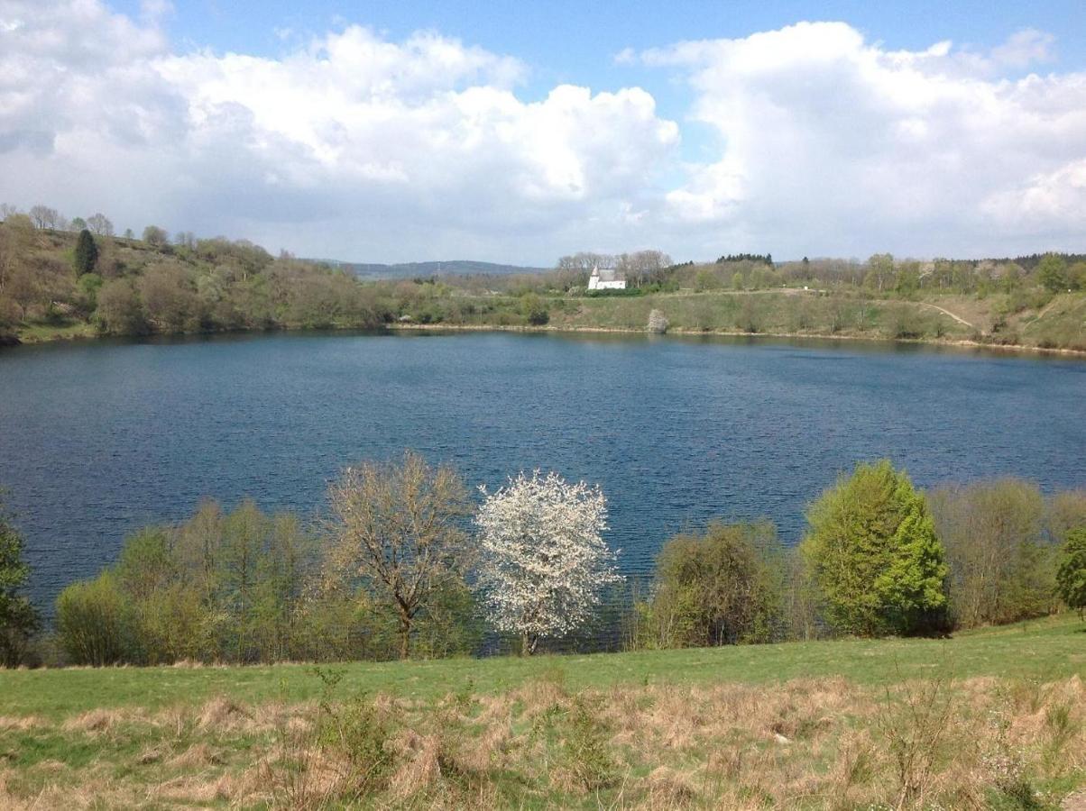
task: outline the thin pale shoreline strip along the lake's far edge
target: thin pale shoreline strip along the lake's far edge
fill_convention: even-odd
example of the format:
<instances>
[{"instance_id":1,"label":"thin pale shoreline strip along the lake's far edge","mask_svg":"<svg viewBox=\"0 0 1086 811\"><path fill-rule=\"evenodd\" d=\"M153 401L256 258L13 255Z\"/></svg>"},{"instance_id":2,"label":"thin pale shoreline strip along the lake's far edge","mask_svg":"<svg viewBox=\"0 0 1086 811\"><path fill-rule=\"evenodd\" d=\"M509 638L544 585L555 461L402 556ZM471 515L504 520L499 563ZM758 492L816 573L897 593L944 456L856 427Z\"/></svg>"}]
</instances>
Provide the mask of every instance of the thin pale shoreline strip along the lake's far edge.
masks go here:
<instances>
[{"instance_id":1,"label":"thin pale shoreline strip along the lake's far edge","mask_svg":"<svg viewBox=\"0 0 1086 811\"><path fill-rule=\"evenodd\" d=\"M788 340L831 340L831 342L866 342L879 344L908 344L914 346L948 347L958 349L983 349L995 352L1010 352L1018 355L1041 355L1068 358L1086 358L1086 350L1069 349L1061 347L1039 347L1023 344L986 344L980 340L969 340L957 338L946 340L940 338L887 338L880 335L842 335L826 333L792 333L792 332L758 332L749 333L740 330L683 330L673 329L666 333L649 333L647 330L635 330L622 326L551 326L551 325L529 325L529 324L413 324L413 323L390 323L382 324L372 330L355 326L329 326L321 329L311 327L285 327L278 330L224 330L217 332L177 333L173 335L94 335L94 334L63 334L56 333L47 336L20 336L15 335L10 343L0 342L0 349L8 346L34 346L41 344L54 344L62 342L81 343L98 342L108 339L131 339L131 338L185 338L185 337L207 337L215 335L275 335L278 333L316 333L316 332L374 332L374 333L397 333L397 332L514 332L514 333L553 333L553 334L601 334L601 335L677 335L681 337L722 337L722 338L769 338Z\"/></svg>"}]
</instances>

